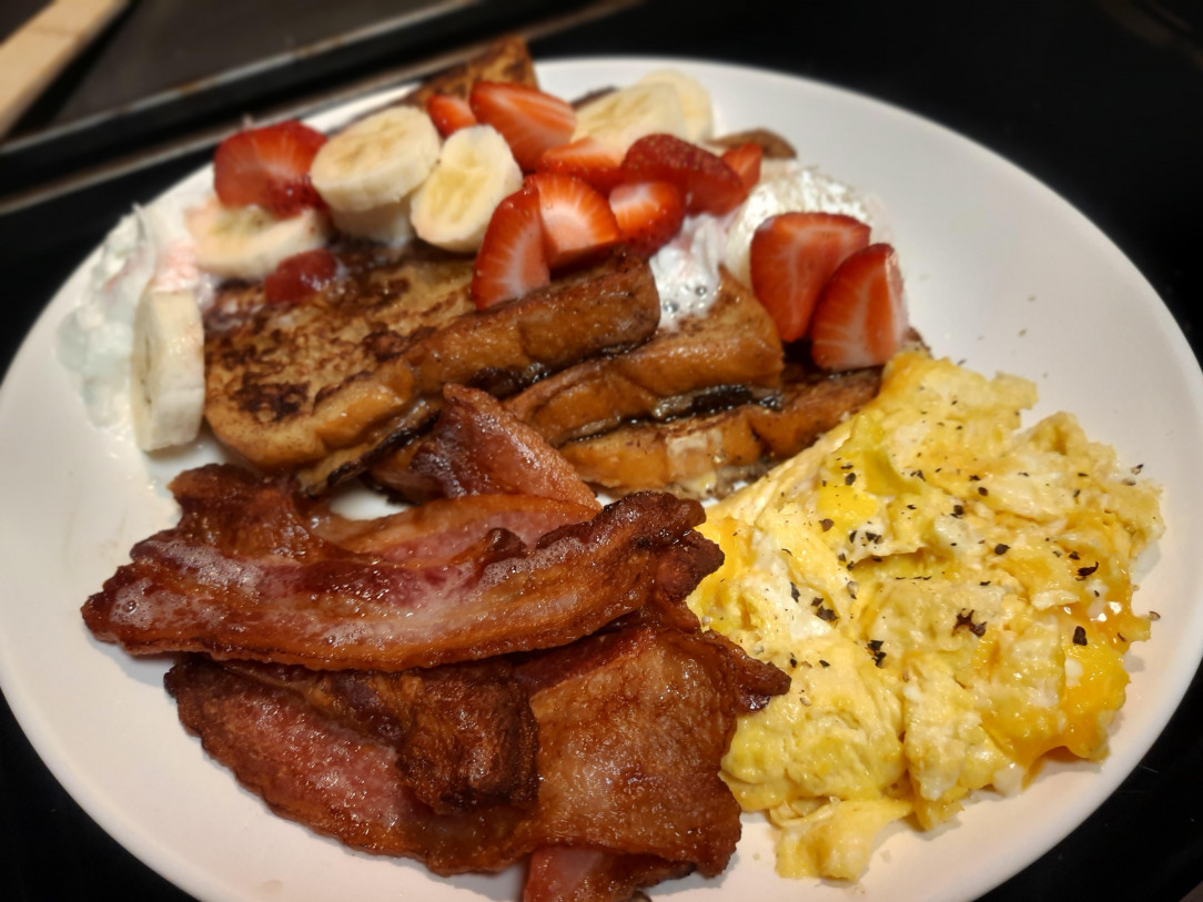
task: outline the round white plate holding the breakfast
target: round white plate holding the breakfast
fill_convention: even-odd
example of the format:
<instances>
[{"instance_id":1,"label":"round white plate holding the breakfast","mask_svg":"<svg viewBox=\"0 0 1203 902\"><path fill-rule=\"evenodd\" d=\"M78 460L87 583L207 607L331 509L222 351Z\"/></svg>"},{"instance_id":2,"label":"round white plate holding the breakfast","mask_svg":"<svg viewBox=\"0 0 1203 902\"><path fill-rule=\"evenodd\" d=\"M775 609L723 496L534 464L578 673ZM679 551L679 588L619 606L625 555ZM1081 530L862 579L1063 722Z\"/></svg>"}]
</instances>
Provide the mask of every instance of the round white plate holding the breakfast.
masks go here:
<instances>
[{"instance_id":1,"label":"round white plate holding the breakfast","mask_svg":"<svg viewBox=\"0 0 1203 902\"><path fill-rule=\"evenodd\" d=\"M540 67L575 96L627 84L665 60ZM1071 409L1088 433L1166 487L1168 533L1146 558L1138 610L1161 613L1131 654L1127 706L1102 765L1049 765L1023 795L986 795L932 835L895 829L860 885L777 878L768 829L718 880L657 897L972 898L1073 830L1136 766L1186 690L1203 651L1203 379L1152 289L1080 214L1012 165L929 121L798 78L698 64L730 130L768 125L800 156L876 194L890 210L912 318L936 352L1035 379L1041 411ZM328 126L339 111L319 120ZM177 190L203 186L197 173ZM202 900L517 898L518 874L432 878L407 861L345 850L277 818L186 736L165 665L100 645L78 609L129 547L173 522L164 479L212 456L148 461L89 425L54 356L84 263L22 348L2 392L0 686L42 759L135 855ZM949 862L960 862L949 867ZM972 864L970 864L972 862ZM754 894L754 895L753 895Z\"/></svg>"}]
</instances>

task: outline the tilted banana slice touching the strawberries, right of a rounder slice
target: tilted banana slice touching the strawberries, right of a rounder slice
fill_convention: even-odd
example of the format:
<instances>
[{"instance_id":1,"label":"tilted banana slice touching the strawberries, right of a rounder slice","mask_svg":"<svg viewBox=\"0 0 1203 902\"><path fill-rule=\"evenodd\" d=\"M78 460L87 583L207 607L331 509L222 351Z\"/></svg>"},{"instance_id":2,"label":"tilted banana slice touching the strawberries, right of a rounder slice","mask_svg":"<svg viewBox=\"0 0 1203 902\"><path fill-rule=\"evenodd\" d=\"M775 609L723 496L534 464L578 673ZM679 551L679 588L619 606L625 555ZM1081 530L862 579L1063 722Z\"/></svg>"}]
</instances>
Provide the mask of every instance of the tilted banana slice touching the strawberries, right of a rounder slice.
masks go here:
<instances>
[{"instance_id":1,"label":"tilted banana slice touching the strawberries, right of a rounder slice","mask_svg":"<svg viewBox=\"0 0 1203 902\"><path fill-rule=\"evenodd\" d=\"M497 204L521 186L522 170L497 129L460 129L414 194L414 231L445 250L475 251Z\"/></svg>"}]
</instances>

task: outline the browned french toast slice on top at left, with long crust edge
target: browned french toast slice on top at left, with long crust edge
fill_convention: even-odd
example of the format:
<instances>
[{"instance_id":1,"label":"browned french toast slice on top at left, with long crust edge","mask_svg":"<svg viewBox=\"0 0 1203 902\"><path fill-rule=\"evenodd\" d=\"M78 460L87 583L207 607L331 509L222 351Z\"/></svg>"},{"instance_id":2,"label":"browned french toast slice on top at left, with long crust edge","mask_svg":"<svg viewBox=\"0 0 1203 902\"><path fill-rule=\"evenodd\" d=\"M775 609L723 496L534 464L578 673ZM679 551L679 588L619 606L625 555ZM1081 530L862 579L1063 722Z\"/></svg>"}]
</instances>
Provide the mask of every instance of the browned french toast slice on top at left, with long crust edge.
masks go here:
<instances>
[{"instance_id":1,"label":"browned french toast slice on top at left, with long crust edge","mask_svg":"<svg viewBox=\"0 0 1203 902\"><path fill-rule=\"evenodd\" d=\"M444 382L499 397L652 336L646 262L618 255L487 310L472 260L421 244L356 249L348 275L292 305L226 289L206 321L206 417L230 449L320 492L437 413ZM233 310L233 313L231 313ZM243 313L249 311L249 313Z\"/></svg>"}]
</instances>

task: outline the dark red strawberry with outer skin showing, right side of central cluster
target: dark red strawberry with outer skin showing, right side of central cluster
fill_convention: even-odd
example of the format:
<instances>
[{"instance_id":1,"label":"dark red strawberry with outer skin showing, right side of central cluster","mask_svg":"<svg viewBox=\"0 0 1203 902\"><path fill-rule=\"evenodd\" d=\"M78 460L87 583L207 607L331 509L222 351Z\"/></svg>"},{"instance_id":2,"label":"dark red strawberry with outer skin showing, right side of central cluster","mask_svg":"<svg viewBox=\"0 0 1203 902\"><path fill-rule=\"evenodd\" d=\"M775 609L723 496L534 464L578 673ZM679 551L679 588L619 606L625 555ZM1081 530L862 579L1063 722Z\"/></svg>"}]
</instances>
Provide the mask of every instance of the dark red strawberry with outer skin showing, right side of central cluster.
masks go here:
<instances>
[{"instance_id":1,"label":"dark red strawberry with outer skin showing, right side of central cluster","mask_svg":"<svg viewBox=\"0 0 1203 902\"><path fill-rule=\"evenodd\" d=\"M624 182L671 182L685 194L686 213L727 213L748 190L735 170L709 150L672 135L646 135L627 150Z\"/></svg>"}]
</instances>

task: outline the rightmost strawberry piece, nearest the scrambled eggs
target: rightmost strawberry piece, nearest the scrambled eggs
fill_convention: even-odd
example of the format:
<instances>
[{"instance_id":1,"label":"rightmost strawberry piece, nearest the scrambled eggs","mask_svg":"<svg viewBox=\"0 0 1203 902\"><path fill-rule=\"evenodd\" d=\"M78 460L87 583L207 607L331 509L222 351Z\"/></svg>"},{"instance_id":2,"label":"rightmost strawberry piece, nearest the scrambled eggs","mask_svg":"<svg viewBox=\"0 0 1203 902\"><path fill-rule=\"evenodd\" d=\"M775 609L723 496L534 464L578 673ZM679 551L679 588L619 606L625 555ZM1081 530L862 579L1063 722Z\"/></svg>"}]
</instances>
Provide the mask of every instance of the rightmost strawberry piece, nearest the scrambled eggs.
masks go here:
<instances>
[{"instance_id":1,"label":"rightmost strawberry piece, nearest the scrambled eggs","mask_svg":"<svg viewBox=\"0 0 1203 902\"><path fill-rule=\"evenodd\" d=\"M906 298L897 254L870 244L840 265L814 308L811 357L828 370L884 363L906 336Z\"/></svg>"}]
</instances>

